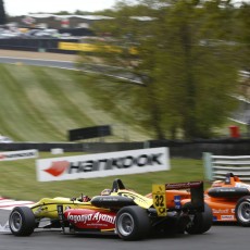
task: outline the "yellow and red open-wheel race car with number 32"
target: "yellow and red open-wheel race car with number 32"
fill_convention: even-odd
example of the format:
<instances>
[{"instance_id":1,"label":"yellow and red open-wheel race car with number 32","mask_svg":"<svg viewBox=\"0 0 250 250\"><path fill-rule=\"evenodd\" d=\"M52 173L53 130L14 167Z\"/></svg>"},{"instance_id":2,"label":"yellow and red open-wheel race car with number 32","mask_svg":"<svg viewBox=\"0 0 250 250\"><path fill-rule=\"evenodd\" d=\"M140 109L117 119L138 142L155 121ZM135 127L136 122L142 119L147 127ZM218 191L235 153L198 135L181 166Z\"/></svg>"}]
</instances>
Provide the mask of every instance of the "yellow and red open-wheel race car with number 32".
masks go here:
<instances>
[{"instance_id":1,"label":"yellow and red open-wheel race car with number 32","mask_svg":"<svg viewBox=\"0 0 250 250\"><path fill-rule=\"evenodd\" d=\"M9 216L15 236L29 236L40 228L62 228L63 233L111 232L124 240L138 240L161 232L203 234L212 225L212 211L203 201L203 183L163 185L149 196L126 189L121 179L108 193L91 199L43 198L33 207L16 207ZM179 205L179 191L190 189L189 202ZM165 189L171 200L165 200ZM163 195L162 195L163 193ZM175 193L175 195L173 195ZM191 199L190 199L191 198Z\"/></svg>"}]
</instances>

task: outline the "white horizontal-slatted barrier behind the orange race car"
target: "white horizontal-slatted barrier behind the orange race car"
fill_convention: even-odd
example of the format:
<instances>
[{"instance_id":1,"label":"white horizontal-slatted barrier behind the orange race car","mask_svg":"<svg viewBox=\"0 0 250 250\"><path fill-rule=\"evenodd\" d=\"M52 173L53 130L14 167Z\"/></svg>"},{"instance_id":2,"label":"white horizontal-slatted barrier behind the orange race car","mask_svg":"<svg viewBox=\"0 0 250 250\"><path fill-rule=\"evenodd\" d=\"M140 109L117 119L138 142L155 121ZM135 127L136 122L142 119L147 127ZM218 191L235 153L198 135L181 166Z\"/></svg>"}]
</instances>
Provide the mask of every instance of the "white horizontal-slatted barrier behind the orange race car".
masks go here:
<instances>
[{"instance_id":1,"label":"white horizontal-slatted barrier behind the orange race car","mask_svg":"<svg viewBox=\"0 0 250 250\"><path fill-rule=\"evenodd\" d=\"M250 182L250 155L213 155L203 153L205 178L225 179L227 173L237 175L243 182Z\"/></svg>"}]
</instances>

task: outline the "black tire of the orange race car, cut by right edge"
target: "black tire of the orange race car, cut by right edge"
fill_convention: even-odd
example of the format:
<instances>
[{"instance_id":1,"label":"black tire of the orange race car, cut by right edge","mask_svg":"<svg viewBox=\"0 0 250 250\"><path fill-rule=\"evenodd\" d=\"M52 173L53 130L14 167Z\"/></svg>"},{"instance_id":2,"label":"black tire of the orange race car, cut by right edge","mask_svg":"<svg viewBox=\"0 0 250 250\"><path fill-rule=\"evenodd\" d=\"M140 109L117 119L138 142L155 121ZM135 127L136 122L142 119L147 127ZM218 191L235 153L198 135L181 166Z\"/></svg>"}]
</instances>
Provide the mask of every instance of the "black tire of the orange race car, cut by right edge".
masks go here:
<instances>
[{"instance_id":1,"label":"black tire of the orange race car, cut by right edge","mask_svg":"<svg viewBox=\"0 0 250 250\"><path fill-rule=\"evenodd\" d=\"M238 200L235 208L235 215L239 225L250 226L250 196Z\"/></svg>"}]
</instances>

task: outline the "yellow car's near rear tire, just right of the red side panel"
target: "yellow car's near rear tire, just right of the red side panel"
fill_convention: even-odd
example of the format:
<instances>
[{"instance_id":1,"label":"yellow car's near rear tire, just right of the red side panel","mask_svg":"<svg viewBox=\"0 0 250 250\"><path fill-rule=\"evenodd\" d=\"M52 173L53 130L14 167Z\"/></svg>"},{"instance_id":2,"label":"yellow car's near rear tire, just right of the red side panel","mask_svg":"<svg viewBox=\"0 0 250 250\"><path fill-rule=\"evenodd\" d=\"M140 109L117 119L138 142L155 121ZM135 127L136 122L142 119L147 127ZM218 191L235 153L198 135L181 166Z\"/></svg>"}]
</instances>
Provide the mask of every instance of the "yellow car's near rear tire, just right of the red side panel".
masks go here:
<instances>
[{"instance_id":1,"label":"yellow car's near rear tire, just right of the red side panel","mask_svg":"<svg viewBox=\"0 0 250 250\"><path fill-rule=\"evenodd\" d=\"M150 222L145 209L136 205L122 208L115 220L115 229L124 240L146 238L150 232Z\"/></svg>"}]
</instances>

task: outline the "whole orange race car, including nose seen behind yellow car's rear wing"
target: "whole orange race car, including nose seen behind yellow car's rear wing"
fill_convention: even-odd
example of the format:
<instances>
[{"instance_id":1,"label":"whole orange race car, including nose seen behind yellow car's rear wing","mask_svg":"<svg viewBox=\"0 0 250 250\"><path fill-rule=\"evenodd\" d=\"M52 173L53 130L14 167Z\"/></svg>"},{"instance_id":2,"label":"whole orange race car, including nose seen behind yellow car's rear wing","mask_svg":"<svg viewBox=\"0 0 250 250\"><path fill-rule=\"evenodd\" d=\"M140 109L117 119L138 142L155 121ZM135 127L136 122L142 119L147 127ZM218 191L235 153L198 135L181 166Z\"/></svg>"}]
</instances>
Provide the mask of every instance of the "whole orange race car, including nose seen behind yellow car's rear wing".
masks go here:
<instances>
[{"instance_id":1,"label":"whole orange race car, including nose seen behind yellow car's rear wing","mask_svg":"<svg viewBox=\"0 0 250 250\"><path fill-rule=\"evenodd\" d=\"M228 173L225 180L215 180L202 192L197 192L197 189L186 189L185 185L182 188L182 183L175 184L176 188L166 185L167 208L189 208L190 203L202 197L204 204L212 210L213 222L237 222L241 226L250 226L250 185L240 182L238 176ZM193 191L197 193L192 193ZM151 196L152 193L148 195Z\"/></svg>"}]
</instances>

